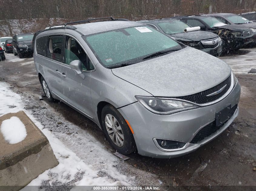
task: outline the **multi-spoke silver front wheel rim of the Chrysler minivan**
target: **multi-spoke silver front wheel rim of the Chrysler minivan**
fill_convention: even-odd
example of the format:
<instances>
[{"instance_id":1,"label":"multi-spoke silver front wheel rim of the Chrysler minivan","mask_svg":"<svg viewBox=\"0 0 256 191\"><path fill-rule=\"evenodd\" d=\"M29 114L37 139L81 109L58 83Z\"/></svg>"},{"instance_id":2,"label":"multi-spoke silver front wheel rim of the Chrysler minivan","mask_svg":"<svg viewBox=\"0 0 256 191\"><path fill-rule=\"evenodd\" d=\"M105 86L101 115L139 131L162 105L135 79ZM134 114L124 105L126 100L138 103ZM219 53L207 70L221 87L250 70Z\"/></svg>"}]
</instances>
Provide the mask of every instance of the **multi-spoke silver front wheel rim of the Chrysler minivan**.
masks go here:
<instances>
[{"instance_id":1,"label":"multi-spoke silver front wheel rim of the Chrysler minivan","mask_svg":"<svg viewBox=\"0 0 256 191\"><path fill-rule=\"evenodd\" d=\"M109 137L117 145L121 147L124 145L124 134L117 119L111 114L105 116L105 124Z\"/></svg>"}]
</instances>

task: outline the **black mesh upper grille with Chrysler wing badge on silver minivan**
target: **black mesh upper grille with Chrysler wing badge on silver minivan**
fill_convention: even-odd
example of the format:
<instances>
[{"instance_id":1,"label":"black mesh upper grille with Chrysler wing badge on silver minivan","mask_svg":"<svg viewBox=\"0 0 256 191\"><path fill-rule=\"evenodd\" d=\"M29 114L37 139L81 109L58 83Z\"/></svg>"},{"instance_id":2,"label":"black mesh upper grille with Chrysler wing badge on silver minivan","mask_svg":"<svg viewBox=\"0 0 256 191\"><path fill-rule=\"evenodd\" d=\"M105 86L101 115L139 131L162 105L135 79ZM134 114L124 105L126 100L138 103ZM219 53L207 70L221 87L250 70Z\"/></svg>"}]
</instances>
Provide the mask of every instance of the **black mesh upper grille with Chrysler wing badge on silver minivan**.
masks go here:
<instances>
[{"instance_id":1,"label":"black mesh upper grille with Chrysler wing badge on silver minivan","mask_svg":"<svg viewBox=\"0 0 256 191\"><path fill-rule=\"evenodd\" d=\"M215 91L218 91L219 89L224 87L224 85L226 85L226 87L224 88L224 90L221 93L219 93L217 95L213 95L213 96L207 96L211 93L214 93ZM221 82L220 84L218 84L208 90L201 91L199 93L188 95L188 96L180 96L180 97L172 97L172 98L187 100L187 101L190 101L193 103L198 103L198 104L209 103L209 102L217 100L221 96L223 96L228 91L230 86L231 86L231 75L227 79L225 79L223 82Z\"/></svg>"}]
</instances>

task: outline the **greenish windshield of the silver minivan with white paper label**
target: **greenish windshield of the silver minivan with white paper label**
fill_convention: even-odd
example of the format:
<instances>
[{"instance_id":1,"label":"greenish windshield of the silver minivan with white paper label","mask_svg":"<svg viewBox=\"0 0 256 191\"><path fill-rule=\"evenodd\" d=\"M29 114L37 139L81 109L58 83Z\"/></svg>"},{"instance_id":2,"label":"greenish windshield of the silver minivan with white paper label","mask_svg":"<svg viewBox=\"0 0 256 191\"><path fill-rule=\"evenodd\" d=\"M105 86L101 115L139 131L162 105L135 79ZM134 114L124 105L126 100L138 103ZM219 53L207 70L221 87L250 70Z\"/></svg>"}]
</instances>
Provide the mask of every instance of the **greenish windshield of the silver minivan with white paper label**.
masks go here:
<instances>
[{"instance_id":1,"label":"greenish windshield of the silver minivan with white paper label","mask_svg":"<svg viewBox=\"0 0 256 191\"><path fill-rule=\"evenodd\" d=\"M142 62L152 53L182 48L170 37L147 26L92 34L86 36L85 41L106 68Z\"/></svg>"}]
</instances>

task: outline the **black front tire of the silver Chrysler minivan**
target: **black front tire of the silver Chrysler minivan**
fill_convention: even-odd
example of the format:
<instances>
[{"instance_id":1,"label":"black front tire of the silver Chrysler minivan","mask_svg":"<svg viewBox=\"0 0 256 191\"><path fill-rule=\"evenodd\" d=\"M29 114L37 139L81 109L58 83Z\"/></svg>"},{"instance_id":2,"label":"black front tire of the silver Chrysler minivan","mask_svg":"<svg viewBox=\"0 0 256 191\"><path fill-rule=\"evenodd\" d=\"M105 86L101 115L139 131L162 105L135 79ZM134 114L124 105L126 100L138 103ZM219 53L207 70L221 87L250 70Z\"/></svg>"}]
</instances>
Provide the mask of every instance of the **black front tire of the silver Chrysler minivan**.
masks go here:
<instances>
[{"instance_id":1,"label":"black front tire of the silver Chrysler minivan","mask_svg":"<svg viewBox=\"0 0 256 191\"><path fill-rule=\"evenodd\" d=\"M117 129L112 130L113 133L109 135L108 130L111 132L111 128L109 128L110 123L108 122L107 118L108 119L112 118L112 122L113 122L115 121L113 120L114 119L113 117L116 119L116 123L114 122L114 125L115 127L117 126L116 127ZM107 125L106 125L105 119L107 121ZM130 154L136 150L136 144L135 144L135 140L132 135L132 132L128 124L126 123L124 117L121 115L121 113L119 113L119 111L114 106L112 106L111 104L108 104L105 107L103 107L101 112L101 121L102 121L102 126L104 129L105 135L108 141L110 142L111 146L116 151L118 151L121 154ZM112 127L115 128L114 126ZM118 130L118 129L121 129L121 130ZM121 145L122 143L120 141L116 140L116 136L114 136L114 138L113 136L111 137L111 135L114 135L114 134L116 134L118 138L121 140L122 138L120 135L123 135L123 141L122 141L123 145Z\"/></svg>"}]
</instances>

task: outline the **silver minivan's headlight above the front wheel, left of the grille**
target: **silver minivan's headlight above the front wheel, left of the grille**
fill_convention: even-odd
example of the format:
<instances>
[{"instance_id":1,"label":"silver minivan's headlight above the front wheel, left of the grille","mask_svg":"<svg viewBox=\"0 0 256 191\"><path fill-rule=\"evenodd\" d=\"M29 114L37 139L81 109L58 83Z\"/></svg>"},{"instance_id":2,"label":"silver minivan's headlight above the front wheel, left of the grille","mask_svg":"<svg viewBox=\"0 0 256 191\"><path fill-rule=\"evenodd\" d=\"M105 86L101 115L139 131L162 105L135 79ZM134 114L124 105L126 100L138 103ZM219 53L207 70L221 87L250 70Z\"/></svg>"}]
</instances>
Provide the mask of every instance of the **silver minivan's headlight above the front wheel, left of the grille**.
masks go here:
<instances>
[{"instance_id":1,"label":"silver minivan's headlight above the front wheel, left of the grille","mask_svg":"<svg viewBox=\"0 0 256 191\"><path fill-rule=\"evenodd\" d=\"M184 110L199 108L199 106L175 99L135 96L139 103L152 113L168 115Z\"/></svg>"}]
</instances>

